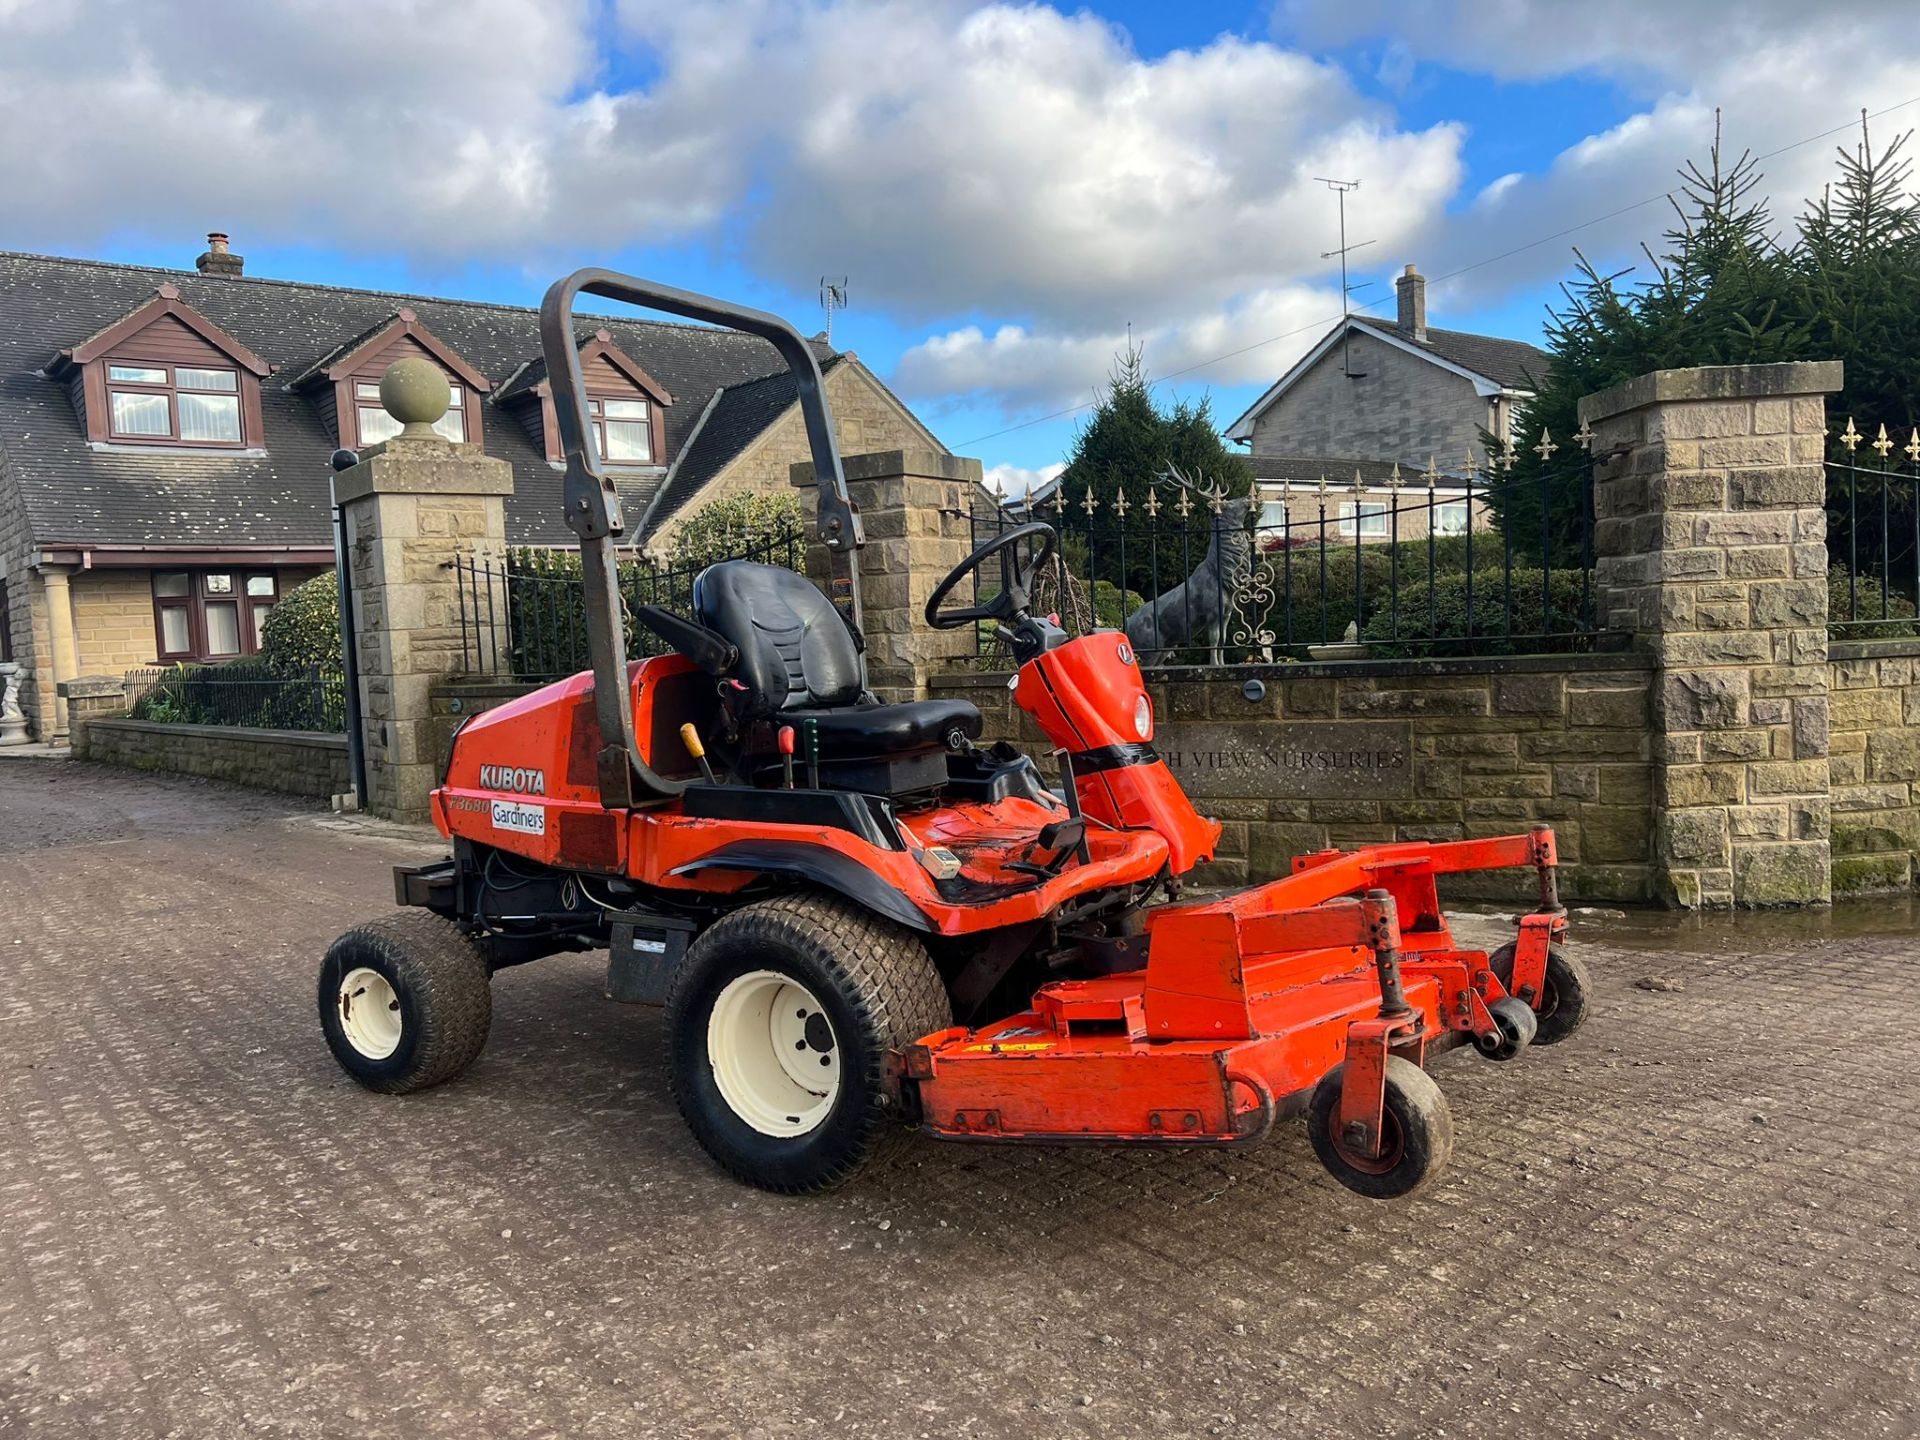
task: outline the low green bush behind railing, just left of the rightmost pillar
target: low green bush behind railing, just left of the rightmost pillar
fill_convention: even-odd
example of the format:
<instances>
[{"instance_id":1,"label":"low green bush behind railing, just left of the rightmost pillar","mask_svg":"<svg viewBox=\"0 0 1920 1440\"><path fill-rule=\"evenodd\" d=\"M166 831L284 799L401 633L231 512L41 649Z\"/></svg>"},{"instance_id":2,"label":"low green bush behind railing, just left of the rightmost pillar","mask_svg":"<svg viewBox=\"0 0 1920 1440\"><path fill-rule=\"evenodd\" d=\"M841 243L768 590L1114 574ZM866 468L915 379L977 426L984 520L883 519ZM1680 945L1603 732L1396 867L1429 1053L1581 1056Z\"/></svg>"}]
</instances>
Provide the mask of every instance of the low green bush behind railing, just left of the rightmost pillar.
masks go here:
<instances>
[{"instance_id":1,"label":"low green bush behind railing, just left of the rightmost pillar","mask_svg":"<svg viewBox=\"0 0 1920 1440\"><path fill-rule=\"evenodd\" d=\"M1513 622L1507 637L1507 576L1501 568L1473 576L1469 624L1467 576L1425 580L1400 593L1398 632L1388 609L1375 611L1361 626L1361 639L1375 657L1404 655L1538 655L1572 649L1571 636L1584 630L1584 578L1578 570L1555 570L1546 586L1538 566L1513 570ZM1398 637L1396 637L1398 636Z\"/></svg>"}]
</instances>

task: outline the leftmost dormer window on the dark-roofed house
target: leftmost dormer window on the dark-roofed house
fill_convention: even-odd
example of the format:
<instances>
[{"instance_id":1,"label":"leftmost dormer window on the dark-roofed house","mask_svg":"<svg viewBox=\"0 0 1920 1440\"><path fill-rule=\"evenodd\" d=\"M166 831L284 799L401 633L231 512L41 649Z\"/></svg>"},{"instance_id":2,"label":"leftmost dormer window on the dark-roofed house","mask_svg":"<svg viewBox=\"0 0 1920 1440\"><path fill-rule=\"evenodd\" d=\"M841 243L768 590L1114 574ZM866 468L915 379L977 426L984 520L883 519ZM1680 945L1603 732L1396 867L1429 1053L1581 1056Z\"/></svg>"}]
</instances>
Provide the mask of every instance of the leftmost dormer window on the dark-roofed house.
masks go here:
<instances>
[{"instance_id":1,"label":"leftmost dormer window on the dark-roofed house","mask_svg":"<svg viewBox=\"0 0 1920 1440\"><path fill-rule=\"evenodd\" d=\"M163 284L154 298L46 372L67 384L86 438L100 445L259 445L267 361Z\"/></svg>"}]
</instances>

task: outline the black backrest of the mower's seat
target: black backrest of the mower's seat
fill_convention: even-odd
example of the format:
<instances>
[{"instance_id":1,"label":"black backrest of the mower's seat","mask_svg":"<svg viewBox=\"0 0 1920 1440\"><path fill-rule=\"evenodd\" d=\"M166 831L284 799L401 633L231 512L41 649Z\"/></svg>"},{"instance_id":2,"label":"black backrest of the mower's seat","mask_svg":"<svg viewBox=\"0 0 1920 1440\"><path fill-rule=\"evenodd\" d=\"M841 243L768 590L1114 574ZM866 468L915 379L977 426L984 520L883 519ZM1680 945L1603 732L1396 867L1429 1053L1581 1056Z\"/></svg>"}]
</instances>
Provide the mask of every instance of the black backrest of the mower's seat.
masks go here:
<instances>
[{"instance_id":1,"label":"black backrest of the mower's seat","mask_svg":"<svg viewBox=\"0 0 1920 1440\"><path fill-rule=\"evenodd\" d=\"M710 564L693 582L693 616L739 649L735 678L755 714L852 705L866 687L847 622L793 570Z\"/></svg>"}]
</instances>

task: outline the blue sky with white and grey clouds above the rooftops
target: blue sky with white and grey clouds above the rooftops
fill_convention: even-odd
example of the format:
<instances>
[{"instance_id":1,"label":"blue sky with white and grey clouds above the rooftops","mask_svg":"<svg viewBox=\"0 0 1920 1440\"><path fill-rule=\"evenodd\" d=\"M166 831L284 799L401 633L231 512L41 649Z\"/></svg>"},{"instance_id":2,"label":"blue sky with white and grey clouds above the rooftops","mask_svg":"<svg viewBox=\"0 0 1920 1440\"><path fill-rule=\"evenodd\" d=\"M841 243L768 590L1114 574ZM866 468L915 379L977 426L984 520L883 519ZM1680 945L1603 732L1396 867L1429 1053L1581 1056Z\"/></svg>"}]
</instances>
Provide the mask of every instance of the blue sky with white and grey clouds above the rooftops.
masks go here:
<instances>
[{"instance_id":1,"label":"blue sky with white and grey clouds above the rooftops","mask_svg":"<svg viewBox=\"0 0 1920 1440\"><path fill-rule=\"evenodd\" d=\"M1601 13L1603 12L1603 13ZM1670 0L0 4L0 248L532 303L611 263L820 326L989 467L1058 463L1131 332L1221 424L1338 313L1538 338L1705 150L1920 113L1910 17ZM1908 108L1910 106L1910 108ZM52 125L48 117L60 115ZM1841 136L1845 138L1845 136ZM1789 215L1834 140L1768 163ZM1530 244L1569 227L1574 234ZM1490 255L1517 250L1496 265ZM1223 359L1225 357L1225 359Z\"/></svg>"}]
</instances>

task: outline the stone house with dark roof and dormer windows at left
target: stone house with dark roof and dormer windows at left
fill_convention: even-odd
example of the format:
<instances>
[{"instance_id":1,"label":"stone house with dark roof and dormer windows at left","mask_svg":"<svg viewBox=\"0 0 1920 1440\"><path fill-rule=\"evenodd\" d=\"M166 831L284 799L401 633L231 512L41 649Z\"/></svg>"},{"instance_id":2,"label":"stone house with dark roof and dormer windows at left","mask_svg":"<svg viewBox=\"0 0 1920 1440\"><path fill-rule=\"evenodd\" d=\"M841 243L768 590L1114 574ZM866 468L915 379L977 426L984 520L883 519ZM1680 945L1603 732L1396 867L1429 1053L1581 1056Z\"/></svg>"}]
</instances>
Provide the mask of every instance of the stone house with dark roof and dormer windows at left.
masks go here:
<instances>
[{"instance_id":1,"label":"stone house with dark roof and dormer windows at left","mask_svg":"<svg viewBox=\"0 0 1920 1440\"><path fill-rule=\"evenodd\" d=\"M653 551L707 501L808 459L793 380L730 330L580 317L595 444ZM841 447L945 445L852 353L814 340ZM570 545L538 313L246 275L0 253L0 660L36 735L56 682L250 655L332 564L328 457L397 430L378 380L438 365L436 426L513 465L507 538Z\"/></svg>"}]
</instances>

